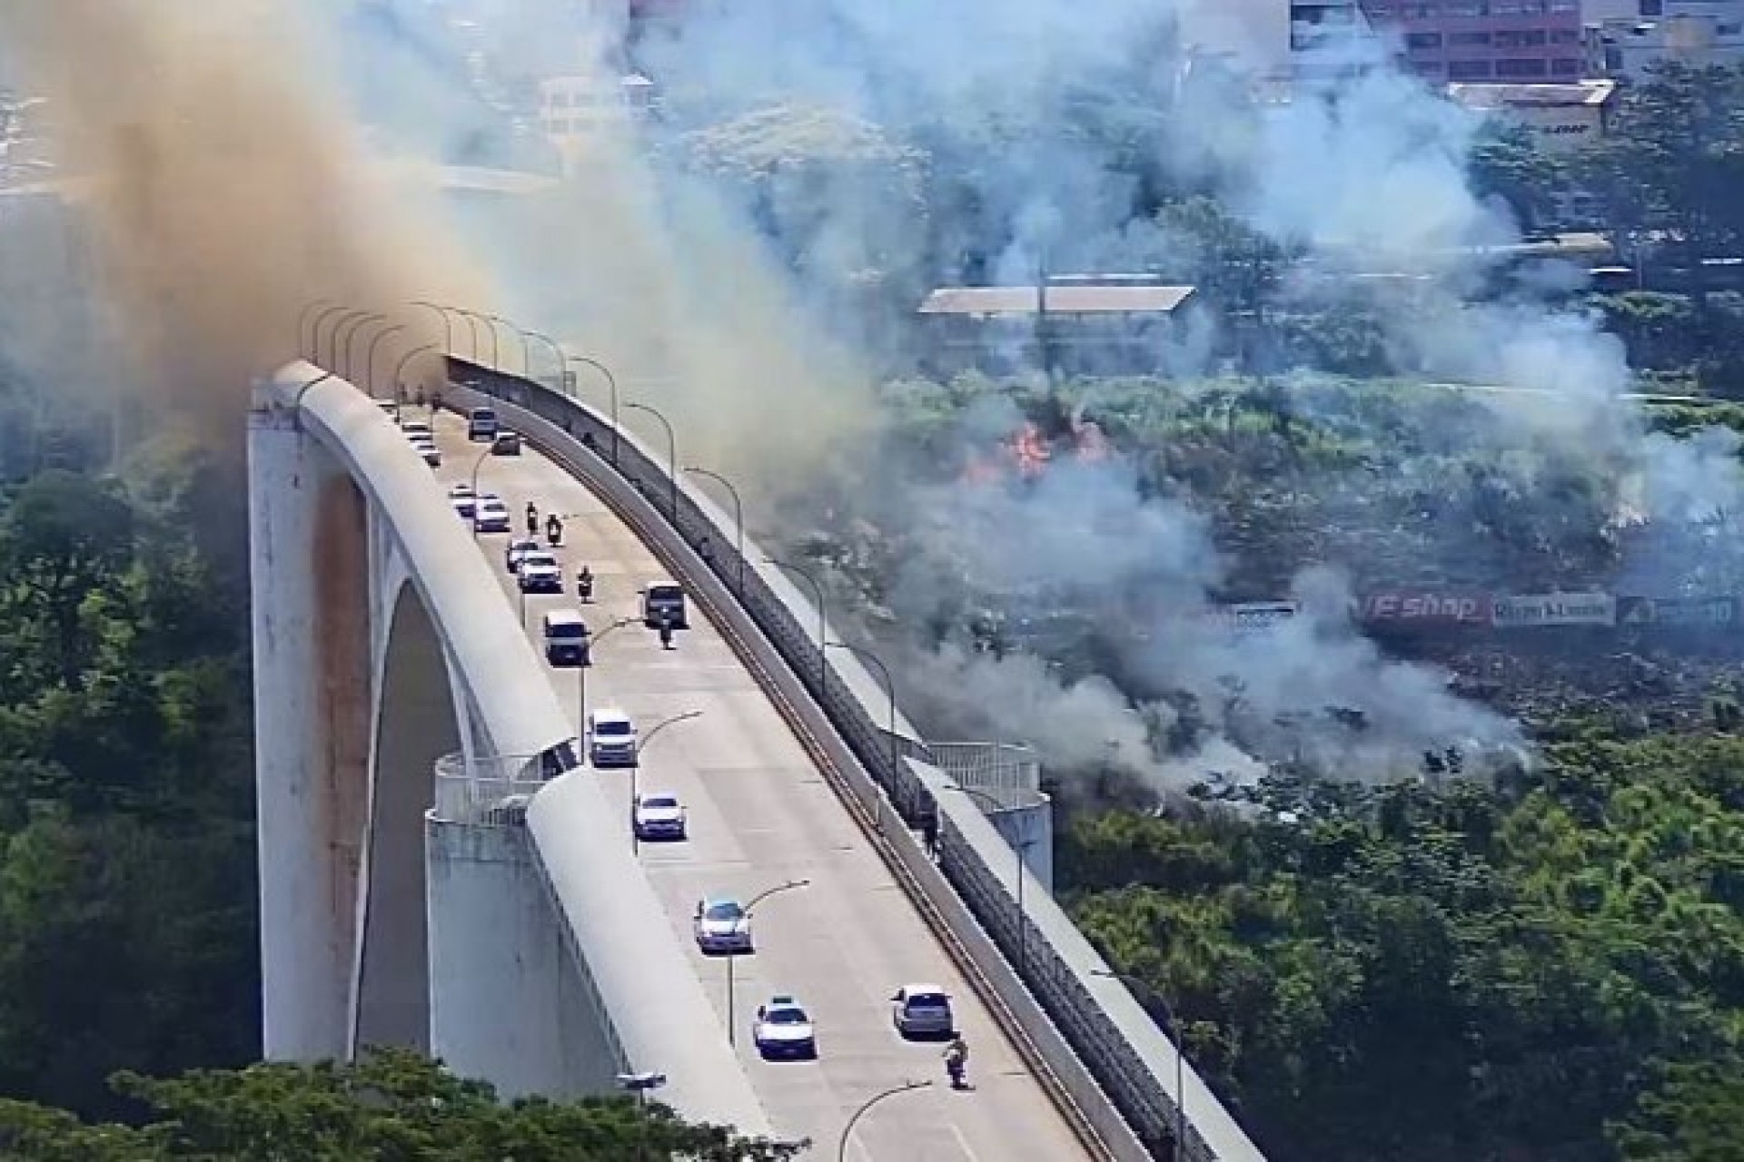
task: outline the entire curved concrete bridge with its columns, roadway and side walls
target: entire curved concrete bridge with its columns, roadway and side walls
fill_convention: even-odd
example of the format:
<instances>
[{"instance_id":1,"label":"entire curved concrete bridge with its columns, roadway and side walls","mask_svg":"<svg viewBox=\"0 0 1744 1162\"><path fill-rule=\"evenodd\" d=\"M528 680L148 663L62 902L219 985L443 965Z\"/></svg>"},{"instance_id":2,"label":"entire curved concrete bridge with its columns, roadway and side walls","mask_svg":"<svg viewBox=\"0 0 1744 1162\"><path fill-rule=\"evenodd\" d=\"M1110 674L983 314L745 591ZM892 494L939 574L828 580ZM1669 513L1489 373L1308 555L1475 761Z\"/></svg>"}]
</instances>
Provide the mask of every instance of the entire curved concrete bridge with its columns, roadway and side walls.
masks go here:
<instances>
[{"instance_id":1,"label":"entire curved concrete bridge with its columns, roadway and side walls","mask_svg":"<svg viewBox=\"0 0 1744 1162\"><path fill-rule=\"evenodd\" d=\"M1137 1160L1179 1134L1182 1157L1259 1159L1053 902L1020 753L930 747L631 432L521 376L450 359L448 378L446 406L494 402L528 453L488 456L433 411L433 470L366 392L307 362L255 390L269 1057L410 1045L509 1094L659 1073L684 1117L818 1157ZM589 671L535 652L539 615L576 599L514 591L504 538L446 502L462 479L516 516L567 514L565 570L598 578ZM663 577L694 606L675 650L633 624L602 634ZM687 843L633 848L631 777L586 767L582 702L671 723L637 775L687 803ZM769 894L755 955L696 949L691 911L717 894ZM910 981L952 993L973 1092L895 1035L889 993ZM752 1049L776 993L811 1009L816 1063ZM935 1084L893 1092L909 1082Z\"/></svg>"}]
</instances>

